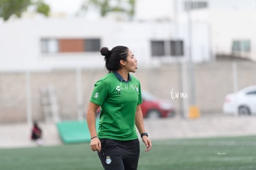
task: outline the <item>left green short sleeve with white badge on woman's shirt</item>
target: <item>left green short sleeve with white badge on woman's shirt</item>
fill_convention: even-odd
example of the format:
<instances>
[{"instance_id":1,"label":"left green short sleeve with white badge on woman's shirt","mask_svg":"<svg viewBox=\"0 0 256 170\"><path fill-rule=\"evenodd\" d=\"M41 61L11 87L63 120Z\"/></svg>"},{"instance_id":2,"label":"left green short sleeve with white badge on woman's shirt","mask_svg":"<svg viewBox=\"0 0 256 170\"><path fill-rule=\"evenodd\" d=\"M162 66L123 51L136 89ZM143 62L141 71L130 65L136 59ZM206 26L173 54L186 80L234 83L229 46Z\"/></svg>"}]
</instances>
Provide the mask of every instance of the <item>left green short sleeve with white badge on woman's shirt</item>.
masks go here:
<instances>
[{"instance_id":1,"label":"left green short sleeve with white badge on woman's shirt","mask_svg":"<svg viewBox=\"0 0 256 170\"><path fill-rule=\"evenodd\" d=\"M95 83L90 102L102 105L108 95L108 87L103 80L98 80Z\"/></svg>"}]
</instances>

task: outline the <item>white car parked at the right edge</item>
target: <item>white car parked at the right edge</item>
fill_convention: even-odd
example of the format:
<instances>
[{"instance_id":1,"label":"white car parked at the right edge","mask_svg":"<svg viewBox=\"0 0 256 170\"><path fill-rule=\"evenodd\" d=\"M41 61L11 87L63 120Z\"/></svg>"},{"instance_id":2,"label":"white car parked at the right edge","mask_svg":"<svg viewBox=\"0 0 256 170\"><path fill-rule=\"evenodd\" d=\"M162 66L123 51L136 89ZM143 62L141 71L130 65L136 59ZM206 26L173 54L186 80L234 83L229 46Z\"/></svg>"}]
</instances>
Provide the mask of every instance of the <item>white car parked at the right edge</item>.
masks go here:
<instances>
[{"instance_id":1,"label":"white car parked at the right edge","mask_svg":"<svg viewBox=\"0 0 256 170\"><path fill-rule=\"evenodd\" d=\"M226 95L223 113L256 114L256 85Z\"/></svg>"}]
</instances>

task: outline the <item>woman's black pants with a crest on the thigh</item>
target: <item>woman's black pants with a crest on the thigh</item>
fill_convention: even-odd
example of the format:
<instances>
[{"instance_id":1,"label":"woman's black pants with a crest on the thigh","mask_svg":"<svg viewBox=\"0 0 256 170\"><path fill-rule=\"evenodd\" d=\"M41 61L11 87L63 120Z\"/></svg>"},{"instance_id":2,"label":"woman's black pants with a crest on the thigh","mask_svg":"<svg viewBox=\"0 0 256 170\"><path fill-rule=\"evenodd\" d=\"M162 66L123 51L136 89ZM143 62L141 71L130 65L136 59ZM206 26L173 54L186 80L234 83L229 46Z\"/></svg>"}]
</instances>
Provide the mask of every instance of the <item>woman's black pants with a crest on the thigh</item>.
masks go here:
<instances>
[{"instance_id":1,"label":"woman's black pants with a crest on the thigh","mask_svg":"<svg viewBox=\"0 0 256 170\"><path fill-rule=\"evenodd\" d=\"M138 139L121 141L101 138L98 156L105 170L135 170L140 156Z\"/></svg>"}]
</instances>

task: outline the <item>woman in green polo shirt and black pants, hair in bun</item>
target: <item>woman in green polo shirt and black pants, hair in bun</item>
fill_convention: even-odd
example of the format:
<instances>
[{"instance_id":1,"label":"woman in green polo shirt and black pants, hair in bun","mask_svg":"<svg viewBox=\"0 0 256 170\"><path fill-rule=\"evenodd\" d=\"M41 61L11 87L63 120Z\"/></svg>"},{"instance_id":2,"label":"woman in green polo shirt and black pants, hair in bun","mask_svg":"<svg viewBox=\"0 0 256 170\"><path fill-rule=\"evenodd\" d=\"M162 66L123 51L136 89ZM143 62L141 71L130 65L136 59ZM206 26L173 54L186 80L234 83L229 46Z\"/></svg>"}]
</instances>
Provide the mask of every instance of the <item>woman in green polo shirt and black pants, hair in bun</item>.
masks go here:
<instances>
[{"instance_id":1,"label":"woman in green polo shirt and black pants, hair in bun","mask_svg":"<svg viewBox=\"0 0 256 170\"><path fill-rule=\"evenodd\" d=\"M129 72L137 69L137 59L126 46L109 50L101 48L109 73L95 83L87 109L93 151L98 151L105 169L137 169L140 145L135 126L139 130L146 150L151 140L143 124L140 82ZM95 115L101 107L98 134Z\"/></svg>"}]
</instances>

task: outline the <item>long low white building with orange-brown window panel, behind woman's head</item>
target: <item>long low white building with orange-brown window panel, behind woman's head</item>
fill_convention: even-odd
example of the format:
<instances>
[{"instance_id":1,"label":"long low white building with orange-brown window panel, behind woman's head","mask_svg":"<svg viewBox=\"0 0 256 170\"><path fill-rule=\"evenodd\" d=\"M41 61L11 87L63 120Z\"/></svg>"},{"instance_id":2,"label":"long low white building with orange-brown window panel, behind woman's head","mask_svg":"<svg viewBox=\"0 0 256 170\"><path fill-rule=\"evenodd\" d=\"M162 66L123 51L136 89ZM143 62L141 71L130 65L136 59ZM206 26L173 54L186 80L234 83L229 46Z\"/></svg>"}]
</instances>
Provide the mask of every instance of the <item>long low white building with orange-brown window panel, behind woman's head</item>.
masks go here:
<instances>
[{"instance_id":1,"label":"long low white building with orange-brown window panel, behind woman's head","mask_svg":"<svg viewBox=\"0 0 256 170\"><path fill-rule=\"evenodd\" d=\"M117 22L79 18L17 19L1 23L0 71L103 68L102 46L128 46L139 67L188 59L187 25L179 28L169 21ZM209 29L193 25L192 59L211 59ZM175 46L178 48L175 48ZM177 52L175 52L177 50Z\"/></svg>"}]
</instances>

